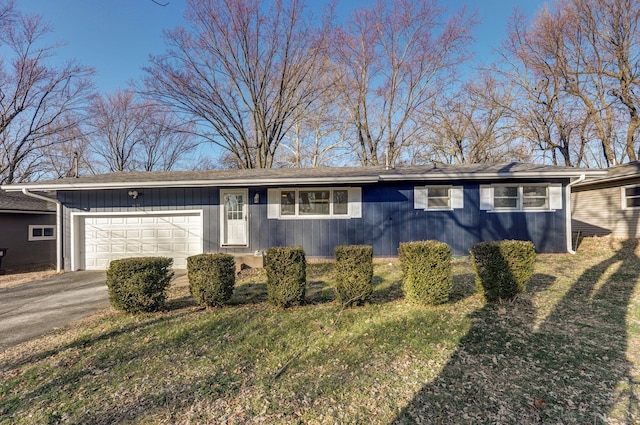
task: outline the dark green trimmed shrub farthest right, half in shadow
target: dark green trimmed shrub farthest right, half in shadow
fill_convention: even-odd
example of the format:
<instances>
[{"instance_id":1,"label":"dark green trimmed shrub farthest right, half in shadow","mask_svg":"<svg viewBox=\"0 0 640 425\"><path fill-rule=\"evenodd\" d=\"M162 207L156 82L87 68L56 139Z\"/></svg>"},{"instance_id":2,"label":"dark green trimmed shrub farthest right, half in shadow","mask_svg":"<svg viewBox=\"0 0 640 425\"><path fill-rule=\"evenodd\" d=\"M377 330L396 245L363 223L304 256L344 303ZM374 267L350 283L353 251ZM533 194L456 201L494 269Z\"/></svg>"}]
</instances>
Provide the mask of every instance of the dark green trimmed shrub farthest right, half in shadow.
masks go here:
<instances>
[{"instance_id":1,"label":"dark green trimmed shrub farthest right, half in shadow","mask_svg":"<svg viewBox=\"0 0 640 425\"><path fill-rule=\"evenodd\" d=\"M536 250L530 241L480 242L471 247L476 287L487 301L512 299L526 291Z\"/></svg>"}]
</instances>

